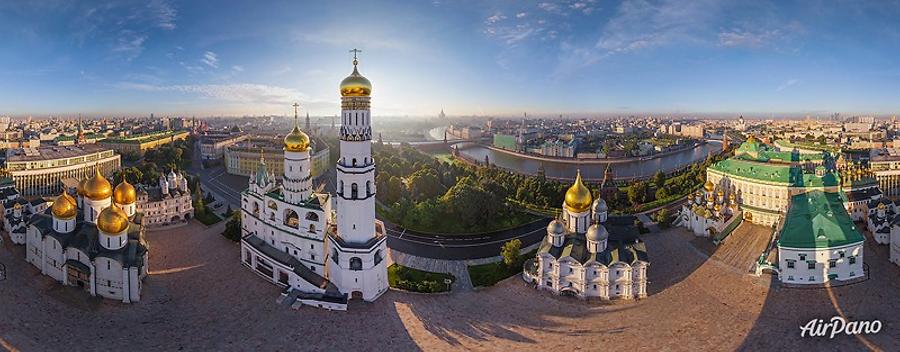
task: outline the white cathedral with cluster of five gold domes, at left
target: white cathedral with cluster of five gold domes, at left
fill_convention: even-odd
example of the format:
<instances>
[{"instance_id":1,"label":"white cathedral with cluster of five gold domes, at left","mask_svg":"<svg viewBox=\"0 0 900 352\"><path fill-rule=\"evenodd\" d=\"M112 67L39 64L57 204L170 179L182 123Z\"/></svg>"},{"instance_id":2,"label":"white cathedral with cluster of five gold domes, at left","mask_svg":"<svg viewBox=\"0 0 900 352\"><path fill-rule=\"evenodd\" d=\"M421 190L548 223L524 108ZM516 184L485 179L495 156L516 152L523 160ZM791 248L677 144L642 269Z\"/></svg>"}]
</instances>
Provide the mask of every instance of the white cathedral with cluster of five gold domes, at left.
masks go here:
<instances>
[{"instance_id":1,"label":"white cathedral with cluster of five gold domes, at left","mask_svg":"<svg viewBox=\"0 0 900 352\"><path fill-rule=\"evenodd\" d=\"M91 296L140 301L149 251L136 202L134 186L123 180L113 189L97 169L79 183L77 199L63 190L49 213L29 218L25 260Z\"/></svg>"}]
</instances>

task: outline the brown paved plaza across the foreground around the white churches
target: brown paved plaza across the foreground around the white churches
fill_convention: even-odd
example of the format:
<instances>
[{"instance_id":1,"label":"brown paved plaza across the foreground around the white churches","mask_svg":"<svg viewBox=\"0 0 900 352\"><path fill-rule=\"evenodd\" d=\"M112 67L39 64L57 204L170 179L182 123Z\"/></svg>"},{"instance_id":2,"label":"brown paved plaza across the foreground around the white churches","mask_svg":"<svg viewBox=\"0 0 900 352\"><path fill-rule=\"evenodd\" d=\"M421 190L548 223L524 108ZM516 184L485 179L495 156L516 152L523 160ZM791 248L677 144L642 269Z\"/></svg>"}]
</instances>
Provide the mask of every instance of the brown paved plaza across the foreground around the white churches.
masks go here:
<instances>
[{"instance_id":1,"label":"brown paved plaza across the foreground around the white churches","mask_svg":"<svg viewBox=\"0 0 900 352\"><path fill-rule=\"evenodd\" d=\"M518 279L450 295L390 291L347 312L276 304L279 290L238 261L223 224L150 232L143 301L89 298L38 274L8 241L0 263L0 349L45 350L737 350L900 349L900 269L867 245L871 278L788 289L742 274L670 229L645 236L651 296L586 303ZM713 257L714 258L714 257ZM880 319L863 338L800 338L813 318Z\"/></svg>"}]
</instances>

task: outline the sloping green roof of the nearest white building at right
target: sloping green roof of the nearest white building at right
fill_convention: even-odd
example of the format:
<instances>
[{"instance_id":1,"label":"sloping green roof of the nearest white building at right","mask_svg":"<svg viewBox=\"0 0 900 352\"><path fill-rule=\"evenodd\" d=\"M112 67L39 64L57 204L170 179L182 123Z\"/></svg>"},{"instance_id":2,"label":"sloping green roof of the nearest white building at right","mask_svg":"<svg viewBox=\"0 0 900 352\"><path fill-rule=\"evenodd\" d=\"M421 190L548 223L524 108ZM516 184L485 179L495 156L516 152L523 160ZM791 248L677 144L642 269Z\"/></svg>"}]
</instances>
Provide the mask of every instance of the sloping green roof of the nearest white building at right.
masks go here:
<instances>
[{"instance_id":1,"label":"sloping green roof of the nearest white building at right","mask_svg":"<svg viewBox=\"0 0 900 352\"><path fill-rule=\"evenodd\" d=\"M812 191L791 197L778 246L829 248L862 241L841 196L836 192Z\"/></svg>"}]
</instances>

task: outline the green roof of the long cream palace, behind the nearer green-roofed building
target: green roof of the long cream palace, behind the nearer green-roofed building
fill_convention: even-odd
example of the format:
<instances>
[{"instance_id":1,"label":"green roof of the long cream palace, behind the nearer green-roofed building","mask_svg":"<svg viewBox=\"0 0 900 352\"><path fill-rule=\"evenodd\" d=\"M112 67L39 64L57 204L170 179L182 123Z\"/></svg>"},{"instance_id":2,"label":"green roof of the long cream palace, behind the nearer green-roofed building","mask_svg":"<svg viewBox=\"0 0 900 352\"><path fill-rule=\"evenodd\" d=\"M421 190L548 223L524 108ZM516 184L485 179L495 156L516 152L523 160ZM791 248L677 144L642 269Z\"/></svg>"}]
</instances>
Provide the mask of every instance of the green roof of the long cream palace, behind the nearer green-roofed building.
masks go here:
<instances>
[{"instance_id":1,"label":"green roof of the long cream palace, behind the nearer green-roofed building","mask_svg":"<svg viewBox=\"0 0 900 352\"><path fill-rule=\"evenodd\" d=\"M788 164L731 158L712 164L709 168L731 176L779 183L791 187L830 187L838 185L838 178L833 173L829 172L825 176L819 177L815 174L803 173L799 166Z\"/></svg>"}]
</instances>

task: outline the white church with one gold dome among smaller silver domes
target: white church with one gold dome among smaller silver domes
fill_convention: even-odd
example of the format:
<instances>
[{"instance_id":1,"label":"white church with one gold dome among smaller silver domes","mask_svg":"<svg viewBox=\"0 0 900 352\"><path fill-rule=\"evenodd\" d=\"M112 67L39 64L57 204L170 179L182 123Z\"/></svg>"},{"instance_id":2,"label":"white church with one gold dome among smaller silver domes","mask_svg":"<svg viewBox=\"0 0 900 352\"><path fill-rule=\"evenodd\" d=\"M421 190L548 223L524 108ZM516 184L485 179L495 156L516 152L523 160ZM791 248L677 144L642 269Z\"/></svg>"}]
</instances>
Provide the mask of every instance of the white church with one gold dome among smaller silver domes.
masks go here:
<instances>
[{"instance_id":1,"label":"white church with one gold dome among smaller silver domes","mask_svg":"<svg viewBox=\"0 0 900 352\"><path fill-rule=\"evenodd\" d=\"M569 187L560 218L522 278L539 289L582 299L636 299L647 296L650 260L632 219L610 221L602 198L592 200L579 173Z\"/></svg>"}]
</instances>

